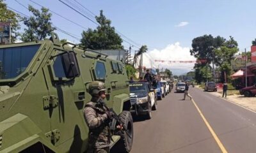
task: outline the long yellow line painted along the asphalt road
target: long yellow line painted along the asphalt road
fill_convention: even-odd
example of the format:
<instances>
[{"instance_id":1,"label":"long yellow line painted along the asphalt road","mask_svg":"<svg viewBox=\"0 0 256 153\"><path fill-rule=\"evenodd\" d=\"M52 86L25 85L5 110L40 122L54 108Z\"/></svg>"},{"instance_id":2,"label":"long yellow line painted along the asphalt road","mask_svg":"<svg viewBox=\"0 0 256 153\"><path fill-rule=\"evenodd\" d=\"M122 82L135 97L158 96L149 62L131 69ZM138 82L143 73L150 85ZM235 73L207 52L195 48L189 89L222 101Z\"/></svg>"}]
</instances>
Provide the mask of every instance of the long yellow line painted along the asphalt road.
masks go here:
<instances>
[{"instance_id":1,"label":"long yellow line painted along the asphalt road","mask_svg":"<svg viewBox=\"0 0 256 153\"><path fill-rule=\"evenodd\" d=\"M204 122L205 122L207 128L208 128L209 131L211 132L211 134L212 134L214 140L215 140L215 141L217 142L217 144L219 145L221 151L222 151L223 153L227 153L227 150L225 149L225 147L224 147L223 144L221 143L221 141L220 141L220 139L218 138L218 136L216 135L216 133L215 133L215 132L213 131L213 129L211 128L209 122L207 122L207 120L205 119L203 113L201 112L201 110L200 110L200 109L198 108L198 106L196 105L194 99L192 99L192 102L194 103L196 109L198 110L199 114L201 115L202 119L204 120Z\"/></svg>"}]
</instances>

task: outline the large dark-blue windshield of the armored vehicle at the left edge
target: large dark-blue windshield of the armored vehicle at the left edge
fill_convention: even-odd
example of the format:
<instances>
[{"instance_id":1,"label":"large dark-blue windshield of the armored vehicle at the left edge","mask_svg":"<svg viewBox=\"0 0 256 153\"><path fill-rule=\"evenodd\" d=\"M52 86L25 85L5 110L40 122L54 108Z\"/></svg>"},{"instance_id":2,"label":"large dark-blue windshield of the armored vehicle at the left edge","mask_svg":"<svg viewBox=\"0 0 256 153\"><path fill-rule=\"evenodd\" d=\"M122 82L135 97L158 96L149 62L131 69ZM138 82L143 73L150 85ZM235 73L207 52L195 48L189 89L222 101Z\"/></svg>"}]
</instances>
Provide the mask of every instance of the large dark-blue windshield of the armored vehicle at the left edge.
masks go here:
<instances>
[{"instance_id":1,"label":"large dark-blue windshield of the armored vehicle at the left edge","mask_svg":"<svg viewBox=\"0 0 256 153\"><path fill-rule=\"evenodd\" d=\"M0 48L0 79L15 78L26 70L40 45Z\"/></svg>"}]
</instances>

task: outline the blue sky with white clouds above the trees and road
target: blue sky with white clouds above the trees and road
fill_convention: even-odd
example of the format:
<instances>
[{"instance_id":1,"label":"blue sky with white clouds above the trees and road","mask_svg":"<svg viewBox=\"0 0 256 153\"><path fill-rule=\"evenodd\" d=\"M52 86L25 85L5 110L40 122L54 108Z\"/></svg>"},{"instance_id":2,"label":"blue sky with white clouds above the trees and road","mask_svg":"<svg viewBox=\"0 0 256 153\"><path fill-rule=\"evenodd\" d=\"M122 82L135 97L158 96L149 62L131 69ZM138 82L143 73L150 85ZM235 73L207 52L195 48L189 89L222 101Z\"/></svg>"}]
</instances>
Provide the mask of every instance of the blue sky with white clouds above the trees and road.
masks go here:
<instances>
[{"instance_id":1,"label":"blue sky with white clouds above the trees and road","mask_svg":"<svg viewBox=\"0 0 256 153\"><path fill-rule=\"evenodd\" d=\"M26 15L31 15L19 3L40 8L29 0L6 0L11 8ZM50 10L76 22L73 24L52 13L52 23L72 35L81 38L82 31L97 27L92 21L71 10L59 0L33 0ZM155 60L193 61L189 53L193 38L212 34L226 39L233 36L239 50L250 50L252 40L256 38L255 0L61 0L76 4L79 11L93 19L103 10L104 15L112 21L118 33L122 33L125 48L132 46L132 53L141 45L148 46L147 55L143 56L146 68L168 68L175 75L191 71L193 64L155 62ZM78 3L83 6L80 6ZM83 8L84 7L84 8ZM85 8L87 10L85 10ZM88 11L90 10L90 11ZM92 12L92 13L91 13ZM67 34L56 31L61 39L74 43L79 41Z\"/></svg>"}]
</instances>

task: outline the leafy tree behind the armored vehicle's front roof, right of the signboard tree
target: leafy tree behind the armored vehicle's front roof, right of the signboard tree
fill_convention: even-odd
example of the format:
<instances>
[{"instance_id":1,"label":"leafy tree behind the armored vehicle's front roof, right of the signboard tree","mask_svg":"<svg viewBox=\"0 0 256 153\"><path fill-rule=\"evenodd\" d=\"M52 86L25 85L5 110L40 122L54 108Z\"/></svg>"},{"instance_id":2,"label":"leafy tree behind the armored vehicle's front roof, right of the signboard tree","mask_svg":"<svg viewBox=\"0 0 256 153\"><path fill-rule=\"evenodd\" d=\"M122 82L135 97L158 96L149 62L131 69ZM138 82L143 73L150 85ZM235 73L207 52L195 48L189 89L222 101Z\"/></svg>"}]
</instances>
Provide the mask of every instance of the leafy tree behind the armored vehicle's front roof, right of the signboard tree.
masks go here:
<instances>
[{"instance_id":1,"label":"leafy tree behind the armored vehicle's front roof, right of the signboard tree","mask_svg":"<svg viewBox=\"0 0 256 153\"><path fill-rule=\"evenodd\" d=\"M21 36L21 40L28 41L36 41L36 40L44 40L47 36L51 36L52 31L56 28L52 27L51 16L47 8L41 8L41 12L33 8L33 6L29 5L29 11L33 13L31 17L24 17L22 21L24 25L28 27L28 29L24 29L24 33Z\"/></svg>"}]
</instances>

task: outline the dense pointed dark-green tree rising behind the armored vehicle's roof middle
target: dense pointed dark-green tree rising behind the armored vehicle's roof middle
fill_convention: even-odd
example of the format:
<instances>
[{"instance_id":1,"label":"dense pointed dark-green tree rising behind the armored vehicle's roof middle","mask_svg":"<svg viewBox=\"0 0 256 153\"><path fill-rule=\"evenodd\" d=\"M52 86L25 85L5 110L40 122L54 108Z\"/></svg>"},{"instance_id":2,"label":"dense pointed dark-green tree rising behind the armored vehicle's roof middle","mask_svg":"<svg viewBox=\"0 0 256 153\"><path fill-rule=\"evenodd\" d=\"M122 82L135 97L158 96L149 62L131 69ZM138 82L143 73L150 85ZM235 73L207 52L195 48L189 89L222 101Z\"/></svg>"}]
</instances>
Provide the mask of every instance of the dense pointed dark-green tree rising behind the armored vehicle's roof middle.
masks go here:
<instances>
[{"instance_id":1,"label":"dense pointed dark-green tree rising behind the armored vehicle's roof middle","mask_svg":"<svg viewBox=\"0 0 256 153\"><path fill-rule=\"evenodd\" d=\"M111 20L103 15L102 10L95 18L99 26L95 30L83 31L80 45L94 50L123 49L122 38L115 32L115 27L111 27Z\"/></svg>"}]
</instances>

